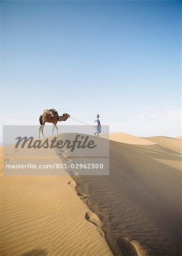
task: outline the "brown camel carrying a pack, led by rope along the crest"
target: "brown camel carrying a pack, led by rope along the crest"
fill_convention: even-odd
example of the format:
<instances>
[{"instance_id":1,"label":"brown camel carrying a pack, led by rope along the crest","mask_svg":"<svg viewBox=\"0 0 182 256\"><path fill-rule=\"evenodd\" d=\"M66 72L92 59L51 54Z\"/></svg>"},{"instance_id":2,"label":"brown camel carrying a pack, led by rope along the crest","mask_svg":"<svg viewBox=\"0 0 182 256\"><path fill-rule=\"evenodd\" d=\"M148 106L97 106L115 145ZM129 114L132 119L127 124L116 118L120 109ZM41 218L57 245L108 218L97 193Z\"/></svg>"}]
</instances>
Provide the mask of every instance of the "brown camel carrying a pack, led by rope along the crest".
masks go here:
<instances>
[{"instance_id":1,"label":"brown camel carrying a pack, led by rope along the crest","mask_svg":"<svg viewBox=\"0 0 182 256\"><path fill-rule=\"evenodd\" d=\"M51 109L52 110L52 109ZM45 123L52 123L53 124L53 129L52 129L52 135L53 135L53 130L57 129L57 133L58 133L58 128L56 126L57 122L61 122L61 121L66 121L68 118L70 117L69 114L64 113L63 115L58 115L58 113L55 111L54 115L51 115L50 111L44 110L44 113L42 115L40 115L39 117L39 122L40 122L40 127L39 127L39 138L40 138L40 131L42 131L42 134L44 136L43 133L43 129L44 129L44 125ZM44 136L45 137L45 136Z\"/></svg>"}]
</instances>

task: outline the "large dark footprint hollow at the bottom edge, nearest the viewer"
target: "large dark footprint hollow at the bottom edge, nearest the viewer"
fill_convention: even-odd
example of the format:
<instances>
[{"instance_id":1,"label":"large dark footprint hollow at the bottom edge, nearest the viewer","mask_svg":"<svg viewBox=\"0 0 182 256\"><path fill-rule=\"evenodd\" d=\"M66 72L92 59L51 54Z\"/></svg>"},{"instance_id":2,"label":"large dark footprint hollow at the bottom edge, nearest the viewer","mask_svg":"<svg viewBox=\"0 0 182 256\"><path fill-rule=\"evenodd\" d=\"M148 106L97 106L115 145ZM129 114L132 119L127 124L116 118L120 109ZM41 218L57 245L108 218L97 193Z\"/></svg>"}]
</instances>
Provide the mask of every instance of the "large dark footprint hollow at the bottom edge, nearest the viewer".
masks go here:
<instances>
[{"instance_id":1,"label":"large dark footprint hollow at the bottom edge, nearest the viewer","mask_svg":"<svg viewBox=\"0 0 182 256\"><path fill-rule=\"evenodd\" d=\"M117 240L117 245L123 256L138 256L135 246L130 241L119 237Z\"/></svg>"}]
</instances>

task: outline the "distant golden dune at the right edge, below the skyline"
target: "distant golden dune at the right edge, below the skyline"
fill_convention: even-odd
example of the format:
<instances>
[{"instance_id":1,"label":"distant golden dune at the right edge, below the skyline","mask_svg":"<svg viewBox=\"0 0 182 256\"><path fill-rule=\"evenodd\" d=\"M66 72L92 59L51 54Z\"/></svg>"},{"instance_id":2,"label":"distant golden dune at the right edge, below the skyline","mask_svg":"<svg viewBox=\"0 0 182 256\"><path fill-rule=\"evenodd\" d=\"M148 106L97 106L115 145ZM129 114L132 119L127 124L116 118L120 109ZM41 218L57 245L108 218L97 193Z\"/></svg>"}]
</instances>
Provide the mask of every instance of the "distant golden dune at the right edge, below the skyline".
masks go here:
<instances>
[{"instance_id":1,"label":"distant golden dune at the right edge, below the skyline","mask_svg":"<svg viewBox=\"0 0 182 256\"><path fill-rule=\"evenodd\" d=\"M182 142L180 141L180 139L164 136L144 137L144 139L148 139L148 141L157 143L162 147L168 148L169 150L173 150L176 152L182 151Z\"/></svg>"}]
</instances>

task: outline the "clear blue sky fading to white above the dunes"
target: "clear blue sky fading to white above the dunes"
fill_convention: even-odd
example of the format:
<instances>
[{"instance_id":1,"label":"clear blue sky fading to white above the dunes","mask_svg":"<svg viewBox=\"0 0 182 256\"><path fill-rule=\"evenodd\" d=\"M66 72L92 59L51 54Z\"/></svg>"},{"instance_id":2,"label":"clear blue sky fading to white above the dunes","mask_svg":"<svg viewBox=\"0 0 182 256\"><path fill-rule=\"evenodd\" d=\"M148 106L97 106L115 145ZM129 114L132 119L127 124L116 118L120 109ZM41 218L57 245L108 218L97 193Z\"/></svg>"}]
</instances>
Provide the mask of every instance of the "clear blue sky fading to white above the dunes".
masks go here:
<instances>
[{"instance_id":1,"label":"clear blue sky fading to white above the dunes","mask_svg":"<svg viewBox=\"0 0 182 256\"><path fill-rule=\"evenodd\" d=\"M181 135L181 1L1 1L1 128L50 108Z\"/></svg>"}]
</instances>

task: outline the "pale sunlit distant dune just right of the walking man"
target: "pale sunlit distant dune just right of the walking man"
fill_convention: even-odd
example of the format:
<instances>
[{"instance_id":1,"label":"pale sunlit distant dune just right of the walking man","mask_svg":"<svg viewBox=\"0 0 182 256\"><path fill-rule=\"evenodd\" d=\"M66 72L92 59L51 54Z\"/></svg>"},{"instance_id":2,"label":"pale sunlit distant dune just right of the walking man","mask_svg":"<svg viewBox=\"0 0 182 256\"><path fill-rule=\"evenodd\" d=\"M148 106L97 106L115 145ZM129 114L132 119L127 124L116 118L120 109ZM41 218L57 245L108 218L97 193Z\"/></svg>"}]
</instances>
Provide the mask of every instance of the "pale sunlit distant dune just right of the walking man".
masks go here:
<instances>
[{"instance_id":1,"label":"pale sunlit distant dune just right of the walking man","mask_svg":"<svg viewBox=\"0 0 182 256\"><path fill-rule=\"evenodd\" d=\"M107 135L102 135L102 138L107 138ZM110 141L117 141L127 144L138 144L138 145L152 145L155 142L148 141L148 139L136 137L126 133L110 133Z\"/></svg>"}]
</instances>

